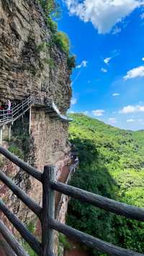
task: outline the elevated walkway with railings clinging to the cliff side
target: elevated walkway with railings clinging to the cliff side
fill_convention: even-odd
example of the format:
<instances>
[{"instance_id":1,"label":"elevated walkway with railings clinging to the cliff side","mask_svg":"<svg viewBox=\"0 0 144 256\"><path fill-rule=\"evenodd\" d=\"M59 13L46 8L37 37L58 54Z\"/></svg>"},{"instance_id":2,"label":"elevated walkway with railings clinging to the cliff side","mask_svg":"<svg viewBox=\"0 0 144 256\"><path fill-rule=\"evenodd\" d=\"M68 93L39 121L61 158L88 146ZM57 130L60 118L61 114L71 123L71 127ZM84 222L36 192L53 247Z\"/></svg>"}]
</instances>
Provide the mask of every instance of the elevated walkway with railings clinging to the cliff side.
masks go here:
<instances>
[{"instance_id":1,"label":"elevated walkway with railings clinging to the cliff side","mask_svg":"<svg viewBox=\"0 0 144 256\"><path fill-rule=\"evenodd\" d=\"M45 111L48 112L51 118L58 118L63 122L71 121L71 119L68 119L66 115L62 115L60 113L53 100L44 98L42 99L40 97L30 95L30 97L27 97L26 100L22 101L22 103L12 107L12 110L0 110L0 127L14 123L15 120L30 110L32 105L35 107L44 107Z\"/></svg>"}]
</instances>

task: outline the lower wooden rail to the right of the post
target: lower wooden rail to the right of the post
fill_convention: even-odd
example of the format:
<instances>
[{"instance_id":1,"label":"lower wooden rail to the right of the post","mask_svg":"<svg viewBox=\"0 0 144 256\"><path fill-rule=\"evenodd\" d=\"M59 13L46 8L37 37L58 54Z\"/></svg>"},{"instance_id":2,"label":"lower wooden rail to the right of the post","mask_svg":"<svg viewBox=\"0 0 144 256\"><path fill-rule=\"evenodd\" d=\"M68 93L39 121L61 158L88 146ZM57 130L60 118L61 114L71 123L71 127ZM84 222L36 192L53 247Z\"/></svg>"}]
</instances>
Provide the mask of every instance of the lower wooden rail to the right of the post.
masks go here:
<instances>
[{"instance_id":1,"label":"lower wooden rail to the right of the post","mask_svg":"<svg viewBox=\"0 0 144 256\"><path fill-rule=\"evenodd\" d=\"M130 250L123 249L121 247L117 247L108 242L104 242L101 239L90 236L89 234L85 234L81 231L71 228L65 224L61 224L58 221L54 221L51 219L50 221L51 228L59 231L60 233L65 234L67 237L75 240L76 242L80 242L85 244L88 247L94 248L101 252L107 253L112 256L144 256L138 252L132 252Z\"/></svg>"}]
</instances>

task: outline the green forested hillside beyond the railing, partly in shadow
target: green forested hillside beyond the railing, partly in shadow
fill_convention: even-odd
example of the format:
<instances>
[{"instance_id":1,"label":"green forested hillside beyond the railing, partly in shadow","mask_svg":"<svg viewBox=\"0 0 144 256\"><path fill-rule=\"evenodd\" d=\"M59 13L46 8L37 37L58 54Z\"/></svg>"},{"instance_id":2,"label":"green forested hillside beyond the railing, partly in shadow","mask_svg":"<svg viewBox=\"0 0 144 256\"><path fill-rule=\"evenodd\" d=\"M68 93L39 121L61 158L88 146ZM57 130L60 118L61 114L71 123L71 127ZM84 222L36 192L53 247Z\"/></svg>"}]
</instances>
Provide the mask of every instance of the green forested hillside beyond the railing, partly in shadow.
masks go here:
<instances>
[{"instance_id":1,"label":"green forested hillside beyond the railing, partly in shadow","mask_svg":"<svg viewBox=\"0 0 144 256\"><path fill-rule=\"evenodd\" d=\"M144 207L144 131L125 131L82 114L69 128L80 164L71 185ZM144 224L72 200L67 223L76 229L144 253ZM89 250L89 255L102 255Z\"/></svg>"}]
</instances>

